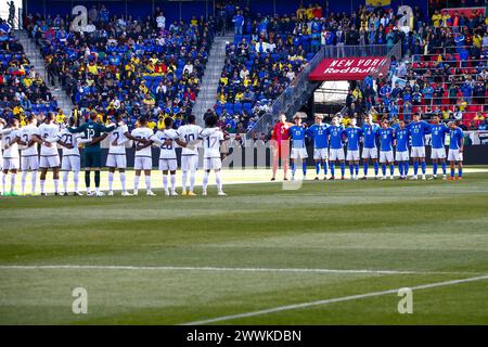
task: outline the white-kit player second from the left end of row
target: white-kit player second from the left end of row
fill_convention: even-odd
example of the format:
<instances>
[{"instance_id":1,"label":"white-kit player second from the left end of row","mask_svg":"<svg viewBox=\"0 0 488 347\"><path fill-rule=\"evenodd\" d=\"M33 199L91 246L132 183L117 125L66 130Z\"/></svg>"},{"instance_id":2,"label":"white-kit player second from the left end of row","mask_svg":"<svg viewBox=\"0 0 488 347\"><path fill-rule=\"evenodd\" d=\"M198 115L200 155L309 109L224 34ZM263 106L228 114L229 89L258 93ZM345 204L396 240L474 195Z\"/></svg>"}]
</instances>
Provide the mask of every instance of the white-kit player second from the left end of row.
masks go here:
<instances>
[{"instance_id":1,"label":"white-kit player second from the left end of row","mask_svg":"<svg viewBox=\"0 0 488 347\"><path fill-rule=\"evenodd\" d=\"M25 194L25 183L27 180L27 172L30 170L30 189L31 194L36 194L37 170L39 169L39 153L37 144L40 143L37 136L39 129L37 128L37 116L31 114L27 118L27 126L20 130L18 144L23 145L21 150L21 170L22 170L22 194Z\"/></svg>"}]
</instances>

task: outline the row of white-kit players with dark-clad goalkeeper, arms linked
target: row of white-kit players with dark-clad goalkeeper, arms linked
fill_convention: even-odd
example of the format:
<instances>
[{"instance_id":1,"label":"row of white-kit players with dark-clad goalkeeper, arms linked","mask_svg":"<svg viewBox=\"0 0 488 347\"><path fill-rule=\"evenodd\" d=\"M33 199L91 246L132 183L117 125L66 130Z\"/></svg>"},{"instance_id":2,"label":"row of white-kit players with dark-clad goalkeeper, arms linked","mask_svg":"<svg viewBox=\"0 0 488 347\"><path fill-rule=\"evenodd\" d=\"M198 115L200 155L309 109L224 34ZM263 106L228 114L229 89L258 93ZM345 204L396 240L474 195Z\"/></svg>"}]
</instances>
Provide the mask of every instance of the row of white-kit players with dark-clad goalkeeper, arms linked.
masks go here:
<instances>
[{"instance_id":1,"label":"row of white-kit players with dark-clad goalkeeper, arms linked","mask_svg":"<svg viewBox=\"0 0 488 347\"><path fill-rule=\"evenodd\" d=\"M176 144L182 147L181 169L182 169L182 194L196 195L194 193L195 172L198 167L197 145L202 142L204 147L204 179L203 195L207 194L208 177L211 170L216 175L218 195L226 195L222 191L221 180L221 157L220 145L224 140L222 131L217 127L217 117L210 116L205 120L206 128L202 129L195 125L195 116L189 117L188 125L178 130L172 129L172 119L165 119L165 129L156 133L146 127L147 120L144 117L139 119L138 128L129 132L128 127L121 121L121 115L115 116L115 123L110 127L104 127L97 123L98 115L92 113L90 121L81 127L75 127L73 118L68 121L68 127L60 129L55 124L55 116L52 113L47 115L44 123L38 126L35 115L28 117L28 124L18 127L18 120L13 119L9 128L0 123L0 136L2 137L0 151L0 165L2 172L3 195L16 195L15 180L18 169L22 171L22 194L26 194L27 174L30 171L31 191L36 194L36 182L38 170L40 175L41 195L46 193L46 177L48 170L53 171L55 195L68 195L68 174L74 174L74 195L82 195L79 192L80 152L79 146L85 145L85 182L87 195L102 196L100 191L101 151L100 142L110 137L110 149L106 159L108 167L108 195L114 195L113 181L116 170L119 171L121 183L121 195L138 195L139 180L142 172L145 176L146 194L155 195L151 190L152 146L159 147L159 170L163 172L163 185L166 195L178 195L176 192L176 170L177 155ZM133 193L129 193L126 187L127 156L126 143L133 141L134 153L134 188ZM60 158L57 145L62 149L62 159ZM38 151L40 147L40 151ZM40 153L39 153L40 152ZM60 168L63 171L63 190L60 191ZM90 188L90 171L94 171L95 190ZM7 177L10 175L11 187L7 190ZM168 179L170 187L168 187ZM187 181L189 179L189 184Z\"/></svg>"}]
</instances>

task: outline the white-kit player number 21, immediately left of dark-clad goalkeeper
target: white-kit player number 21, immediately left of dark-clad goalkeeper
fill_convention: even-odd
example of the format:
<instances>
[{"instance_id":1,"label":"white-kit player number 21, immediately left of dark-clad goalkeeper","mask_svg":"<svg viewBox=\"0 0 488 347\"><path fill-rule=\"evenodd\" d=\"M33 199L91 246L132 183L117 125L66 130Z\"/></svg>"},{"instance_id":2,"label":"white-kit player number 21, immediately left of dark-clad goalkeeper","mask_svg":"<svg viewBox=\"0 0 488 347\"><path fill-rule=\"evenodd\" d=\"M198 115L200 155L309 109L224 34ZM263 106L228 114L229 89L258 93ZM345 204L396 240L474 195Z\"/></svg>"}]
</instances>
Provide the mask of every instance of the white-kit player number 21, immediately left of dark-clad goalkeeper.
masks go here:
<instances>
[{"instance_id":1,"label":"white-kit player number 21, immediately left of dark-clad goalkeeper","mask_svg":"<svg viewBox=\"0 0 488 347\"><path fill-rule=\"evenodd\" d=\"M68 125L70 129L76 128L76 119L70 117L68 119ZM53 138L48 138L46 141L48 142L57 142L63 149L63 159L61 160L61 170L63 171L63 195L67 196L67 182L69 171L73 171L73 182L75 183L75 192L73 195L81 196L78 190L79 182L79 171L81 170L81 159L79 156L79 145L81 143L91 142L91 139L84 139L82 133L72 133L69 128L65 128L57 132Z\"/></svg>"}]
</instances>

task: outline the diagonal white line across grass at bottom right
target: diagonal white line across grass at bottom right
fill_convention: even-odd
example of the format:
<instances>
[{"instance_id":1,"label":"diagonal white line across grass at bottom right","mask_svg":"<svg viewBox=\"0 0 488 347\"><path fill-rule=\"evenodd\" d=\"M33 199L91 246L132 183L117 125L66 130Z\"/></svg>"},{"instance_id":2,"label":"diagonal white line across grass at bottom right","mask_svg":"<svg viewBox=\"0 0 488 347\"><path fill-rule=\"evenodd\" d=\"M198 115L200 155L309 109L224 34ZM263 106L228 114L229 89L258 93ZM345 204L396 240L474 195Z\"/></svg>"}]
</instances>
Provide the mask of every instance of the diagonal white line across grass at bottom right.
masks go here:
<instances>
[{"instance_id":1,"label":"diagonal white line across grass at bottom right","mask_svg":"<svg viewBox=\"0 0 488 347\"><path fill-rule=\"evenodd\" d=\"M481 277L476 277L476 278L470 278L470 279L461 279L461 280L452 280L452 281L422 284L422 285L412 286L410 288L412 291L420 291L420 290L428 290L428 288L434 288L434 287L439 287L439 286L448 286L448 285L454 285L454 284L467 283L467 282L475 282L475 281L483 281L483 280L488 280L488 274L481 275ZM259 311L239 313L239 314L230 314L230 316L222 316L222 317L211 318L211 319L202 320L202 321L194 321L194 322L183 323L182 325L210 324L210 323L217 323L217 322L229 321L229 320L234 320L234 319L241 319L241 318L248 318L248 317L256 317L256 316L275 313L275 312L280 312L280 311L287 311L287 310L308 308L308 307L319 306L319 305L328 305L328 304L333 304L333 303L343 303L343 301L349 301L349 300L356 300L356 299L363 299L363 298L368 298L368 297L382 296L382 295L387 295L387 294L396 294L396 293L398 293L399 290L400 288L395 288L395 290L388 290L388 291L382 291L382 292L372 292L372 293L359 294L359 295L350 295L350 296L344 296L344 297L337 297L337 298L324 299L324 300L317 300L317 301L310 301L310 303L279 306L279 307L269 308L269 309L259 310Z\"/></svg>"}]
</instances>

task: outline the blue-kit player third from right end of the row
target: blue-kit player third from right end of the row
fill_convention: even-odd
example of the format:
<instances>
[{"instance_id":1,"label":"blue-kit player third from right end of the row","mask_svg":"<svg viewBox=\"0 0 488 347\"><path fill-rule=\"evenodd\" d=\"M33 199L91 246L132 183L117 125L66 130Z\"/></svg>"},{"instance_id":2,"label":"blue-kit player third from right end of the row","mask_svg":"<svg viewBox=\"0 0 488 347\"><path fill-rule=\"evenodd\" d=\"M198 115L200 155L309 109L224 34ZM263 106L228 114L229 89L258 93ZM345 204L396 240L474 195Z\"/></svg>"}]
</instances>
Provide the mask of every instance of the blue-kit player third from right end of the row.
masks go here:
<instances>
[{"instance_id":1,"label":"blue-kit player third from right end of the row","mask_svg":"<svg viewBox=\"0 0 488 347\"><path fill-rule=\"evenodd\" d=\"M421 120L419 113L413 115L413 121L409 124L410 137L412 139L411 157L413 160L412 180L419 179L419 163L422 166L422 179L425 180L425 136L431 132L431 125Z\"/></svg>"}]
</instances>

